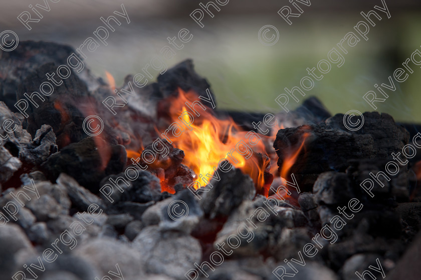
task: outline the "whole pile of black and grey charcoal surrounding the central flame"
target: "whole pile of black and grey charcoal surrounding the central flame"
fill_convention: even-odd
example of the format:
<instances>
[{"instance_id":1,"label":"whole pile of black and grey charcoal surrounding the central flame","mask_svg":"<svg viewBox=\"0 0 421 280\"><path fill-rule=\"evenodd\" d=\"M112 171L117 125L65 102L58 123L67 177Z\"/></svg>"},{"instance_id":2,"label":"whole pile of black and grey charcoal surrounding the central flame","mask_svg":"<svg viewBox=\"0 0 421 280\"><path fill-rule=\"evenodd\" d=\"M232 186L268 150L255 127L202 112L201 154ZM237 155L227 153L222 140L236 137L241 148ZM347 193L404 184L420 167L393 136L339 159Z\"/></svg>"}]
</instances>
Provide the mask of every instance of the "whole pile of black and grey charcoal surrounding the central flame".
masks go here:
<instances>
[{"instance_id":1,"label":"whole pile of black and grey charcoal surrounding the central flame","mask_svg":"<svg viewBox=\"0 0 421 280\"><path fill-rule=\"evenodd\" d=\"M31 99L73 52L26 41L0 57L0 280L398 279L408 270L421 240L413 125L365 112L350 131L314 97L273 118L220 110L191 60L144 87L129 75L115 91L71 69ZM119 96L127 102L114 113L103 101ZM171 119L177 98L191 105L183 127ZM164 132L188 131L195 112L264 141L266 154L232 147L261 164L262 183L228 155L197 183L187 151ZM100 134L84 129L89 115L101 116ZM274 119L286 128L264 126Z\"/></svg>"}]
</instances>

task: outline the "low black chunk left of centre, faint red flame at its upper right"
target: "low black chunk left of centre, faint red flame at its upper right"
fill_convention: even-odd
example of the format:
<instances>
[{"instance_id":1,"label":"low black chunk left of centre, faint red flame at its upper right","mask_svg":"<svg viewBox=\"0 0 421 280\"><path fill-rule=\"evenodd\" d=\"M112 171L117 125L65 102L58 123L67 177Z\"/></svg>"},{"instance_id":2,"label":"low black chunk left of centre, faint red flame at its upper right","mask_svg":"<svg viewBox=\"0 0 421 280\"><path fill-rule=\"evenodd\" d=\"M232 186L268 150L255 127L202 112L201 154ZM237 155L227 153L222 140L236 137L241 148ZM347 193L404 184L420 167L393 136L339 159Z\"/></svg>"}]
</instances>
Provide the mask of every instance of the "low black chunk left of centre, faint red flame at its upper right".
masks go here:
<instances>
[{"instance_id":1,"label":"low black chunk left of centre, faint red flame at its upper right","mask_svg":"<svg viewBox=\"0 0 421 280\"><path fill-rule=\"evenodd\" d=\"M108 144L99 137L88 137L51 155L41 168L52 181L60 173L66 173L95 193L99 190L101 179L121 172L126 160L126 150L122 145Z\"/></svg>"}]
</instances>

